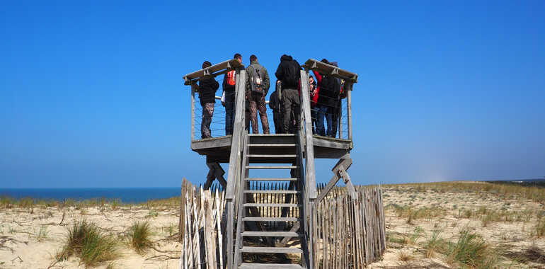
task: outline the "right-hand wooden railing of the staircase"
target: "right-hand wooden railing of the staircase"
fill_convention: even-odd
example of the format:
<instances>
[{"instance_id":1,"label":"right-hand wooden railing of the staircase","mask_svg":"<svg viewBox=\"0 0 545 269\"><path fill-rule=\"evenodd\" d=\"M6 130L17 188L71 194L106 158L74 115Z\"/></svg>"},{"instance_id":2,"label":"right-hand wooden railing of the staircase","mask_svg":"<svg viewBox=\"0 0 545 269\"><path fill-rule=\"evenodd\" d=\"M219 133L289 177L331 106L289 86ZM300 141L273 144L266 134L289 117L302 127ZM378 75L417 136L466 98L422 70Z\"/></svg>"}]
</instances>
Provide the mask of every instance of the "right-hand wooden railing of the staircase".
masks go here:
<instances>
[{"instance_id":1,"label":"right-hand wooden railing of the staircase","mask_svg":"<svg viewBox=\"0 0 545 269\"><path fill-rule=\"evenodd\" d=\"M299 128L297 128L297 136L299 142L299 151L304 151L300 155L299 165L304 169L300 169L301 177L304 180L301 182L303 207L302 207L302 232L304 233L304 259L306 268L314 268L314 227L316 226L316 174L314 171L314 142L312 136L312 120L310 112L310 96L309 96L309 73L301 71L301 114L299 119Z\"/></svg>"}]
</instances>

